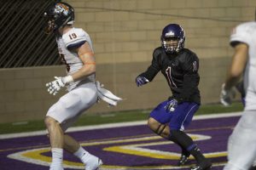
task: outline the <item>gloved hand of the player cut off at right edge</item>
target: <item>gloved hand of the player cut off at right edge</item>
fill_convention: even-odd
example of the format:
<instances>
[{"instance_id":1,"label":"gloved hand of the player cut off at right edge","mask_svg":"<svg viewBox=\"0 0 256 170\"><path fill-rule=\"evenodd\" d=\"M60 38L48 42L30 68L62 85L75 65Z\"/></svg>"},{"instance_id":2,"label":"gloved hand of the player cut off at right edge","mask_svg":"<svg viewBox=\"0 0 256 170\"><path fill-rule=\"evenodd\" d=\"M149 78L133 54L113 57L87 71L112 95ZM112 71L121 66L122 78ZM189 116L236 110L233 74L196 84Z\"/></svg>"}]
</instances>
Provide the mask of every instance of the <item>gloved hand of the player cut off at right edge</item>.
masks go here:
<instances>
[{"instance_id":1,"label":"gloved hand of the player cut off at right edge","mask_svg":"<svg viewBox=\"0 0 256 170\"><path fill-rule=\"evenodd\" d=\"M225 90L224 87L225 84L223 84L221 87L220 103L224 106L229 106L232 103L232 99L235 98L236 93L232 88L230 90Z\"/></svg>"}]
</instances>

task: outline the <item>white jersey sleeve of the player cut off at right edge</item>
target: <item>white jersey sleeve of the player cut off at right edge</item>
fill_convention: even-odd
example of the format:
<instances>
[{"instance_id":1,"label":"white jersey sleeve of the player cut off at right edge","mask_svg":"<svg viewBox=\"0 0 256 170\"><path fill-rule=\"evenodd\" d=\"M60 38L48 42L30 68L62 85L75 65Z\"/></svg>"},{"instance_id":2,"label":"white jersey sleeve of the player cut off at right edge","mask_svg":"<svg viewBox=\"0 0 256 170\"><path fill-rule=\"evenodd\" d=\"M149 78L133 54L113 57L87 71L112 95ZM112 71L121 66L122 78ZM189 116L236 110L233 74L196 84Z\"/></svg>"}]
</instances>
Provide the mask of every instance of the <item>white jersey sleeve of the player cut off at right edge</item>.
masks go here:
<instances>
[{"instance_id":1,"label":"white jersey sleeve of the player cut off at right edge","mask_svg":"<svg viewBox=\"0 0 256 170\"><path fill-rule=\"evenodd\" d=\"M252 32L253 27L249 23L236 26L231 32L230 45L234 46L236 42L244 42L250 44Z\"/></svg>"}]
</instances>

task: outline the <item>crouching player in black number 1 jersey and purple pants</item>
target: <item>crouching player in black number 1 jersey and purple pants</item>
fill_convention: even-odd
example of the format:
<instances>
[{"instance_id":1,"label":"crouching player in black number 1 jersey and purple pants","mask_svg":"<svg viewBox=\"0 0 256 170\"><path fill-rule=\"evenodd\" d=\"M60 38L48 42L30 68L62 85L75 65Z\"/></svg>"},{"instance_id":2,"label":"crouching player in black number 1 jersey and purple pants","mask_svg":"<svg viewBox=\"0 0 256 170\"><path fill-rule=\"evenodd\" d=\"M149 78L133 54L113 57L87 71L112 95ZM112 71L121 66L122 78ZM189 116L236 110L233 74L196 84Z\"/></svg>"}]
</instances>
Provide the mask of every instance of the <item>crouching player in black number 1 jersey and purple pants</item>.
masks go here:
<instances>
[{"instance_id":1,"label":"crouching player in black number 1 jersey and purple pants","mask_svg":"<svg viewBox=\"0 0 256 170\"><path fill-rule=\"evenodd\" d=\"M161 47L154 49L151 65L136 78L136 82L138 87L151 82L159 71L166 77L172 96L150 113L148 127L182 148L178 165L184 165L192 155L197 164L191 169L204 170L212 167L211 161L202 155L195 142L183 131L201 105L199 59L195 53L184 48L184 42L185 32L181 26L166 26L161 35Z\"/></svg>"}]
</instances>

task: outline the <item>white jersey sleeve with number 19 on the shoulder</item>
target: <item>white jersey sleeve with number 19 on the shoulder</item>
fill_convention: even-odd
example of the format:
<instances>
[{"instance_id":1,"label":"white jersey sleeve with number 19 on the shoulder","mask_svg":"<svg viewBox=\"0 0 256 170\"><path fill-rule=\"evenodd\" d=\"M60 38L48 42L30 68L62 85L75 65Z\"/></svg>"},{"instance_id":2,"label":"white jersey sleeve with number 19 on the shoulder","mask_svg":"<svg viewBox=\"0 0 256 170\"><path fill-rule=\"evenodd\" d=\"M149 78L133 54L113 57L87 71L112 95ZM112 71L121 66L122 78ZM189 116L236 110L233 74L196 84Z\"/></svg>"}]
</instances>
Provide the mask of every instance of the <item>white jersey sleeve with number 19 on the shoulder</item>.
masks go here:
<instances>
[{"instance_id":1,"label":"white jersey sleeve with number 19 on the shoulder","mask_svg":"<svg viewBox=\"0 0 256 170\"><path fill-rule=\"evenodd\" d=\"M72 31L68 31L62 38L66 48L68 49L79 48L88 41L86 34L82 29L73 29Z\"/></svg>"}]
</instances>

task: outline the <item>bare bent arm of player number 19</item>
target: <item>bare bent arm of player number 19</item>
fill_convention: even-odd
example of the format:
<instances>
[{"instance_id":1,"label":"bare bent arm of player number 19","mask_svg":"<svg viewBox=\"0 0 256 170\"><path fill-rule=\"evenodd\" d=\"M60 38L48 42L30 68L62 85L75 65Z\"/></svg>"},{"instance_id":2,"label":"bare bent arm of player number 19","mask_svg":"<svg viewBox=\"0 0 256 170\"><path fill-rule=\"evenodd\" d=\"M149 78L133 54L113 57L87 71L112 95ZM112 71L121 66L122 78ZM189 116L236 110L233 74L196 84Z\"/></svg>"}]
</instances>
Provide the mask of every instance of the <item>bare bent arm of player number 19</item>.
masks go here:
<instances>
[{"instance_id":1,"label":"bare bent arm of player number 19","mask_svg":"<svg viewBox=\"0 0 256 170\"><path fill-rule=\"evenodd\" d=\"M84 65L79 71L73 73L72 77L74 82L96 72L96 59L88 42L84 42L84 44L77 48L76 51L79 55L79 59L82 60Z\"/></svg>"}]
</instances>

